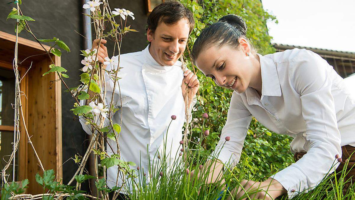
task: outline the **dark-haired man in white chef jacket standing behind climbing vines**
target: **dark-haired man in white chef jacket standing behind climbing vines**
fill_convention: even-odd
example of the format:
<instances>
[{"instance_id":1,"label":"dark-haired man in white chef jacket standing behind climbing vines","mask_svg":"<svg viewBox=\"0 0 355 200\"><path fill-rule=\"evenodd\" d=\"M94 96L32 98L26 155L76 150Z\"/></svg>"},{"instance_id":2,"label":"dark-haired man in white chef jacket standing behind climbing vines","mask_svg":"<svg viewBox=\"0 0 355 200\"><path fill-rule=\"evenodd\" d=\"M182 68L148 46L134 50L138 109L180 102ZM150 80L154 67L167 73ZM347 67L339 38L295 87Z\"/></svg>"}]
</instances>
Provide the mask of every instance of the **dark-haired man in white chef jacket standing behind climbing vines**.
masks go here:
<instances>
[{"instance_id":1,"label":"dark-haired man in white chef jacket standing behind climbing vines","mask_svg":"<svg viewBox=\"0 0 355 200\"><path fill-rule=\"evenodd\" d=\"M119 81L120 91L118 87L114 91L114 100L121 105L121 93L122 116L118 111L112 120L120 124L122 117L120 156L125 161L138 164L140 175L149 177L148 163L152 164L153 159L157 159L157 152L163 152L165 140L166 153L170 155L168 164L173 163L175 155L179 154L187 106L184 102L186 87L189 85L195 95L200 85L197 76L190 70L182 71L182 63L178 60L185 51L194 25L193 14L182 4L176 1L162 3L148 17L147 40L150 44L147 48L120 56L120 67L123 68L119 77L124 78ZM98 60L104 63L108 56L104 46L107 41L102 40L100 48L98 42L98 39L93 42L93 48L98 49ZM111 69L110 65L104 67ZM108 76L106 81L106 101L110 102L114 83ZM83 101L81 103L84 104ZM168 125L174 118L172 115L176 116L176 120L168 131ZM83 129L91 134L90 128L83 121L81 123ZM107 148L108 154L116 153L115 141L108 140L108 143L114 148L114 152ZM118 167L110 167L107 171L107 185L112 188L116 185ZM122 185L121 177L117 185ZM132 181L129 189L132 189Z\"/></svg>"}]
</instances>

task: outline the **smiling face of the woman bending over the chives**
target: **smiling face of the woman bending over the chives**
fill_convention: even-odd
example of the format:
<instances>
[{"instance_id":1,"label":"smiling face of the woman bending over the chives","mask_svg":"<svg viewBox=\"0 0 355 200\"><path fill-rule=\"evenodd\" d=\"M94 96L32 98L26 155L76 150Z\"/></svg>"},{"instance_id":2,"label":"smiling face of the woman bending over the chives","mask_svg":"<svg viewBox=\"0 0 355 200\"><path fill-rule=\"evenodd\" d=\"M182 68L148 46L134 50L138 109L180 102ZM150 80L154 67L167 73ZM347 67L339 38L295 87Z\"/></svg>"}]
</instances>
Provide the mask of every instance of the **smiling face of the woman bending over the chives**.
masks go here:
<instances>
[{"instance_id":1,"label":"smiling face of the woman bending over the chives","mask_svg":"<svg viewBox=\"0 0 355 200\"><path fill-rule=\"evenodd\" d=\"M195 63L202 73L212 78L218 86L243 93L253 75L250 57L246 56L244 48L214 45L202 51Z\"/></svg>"}]
</instances>

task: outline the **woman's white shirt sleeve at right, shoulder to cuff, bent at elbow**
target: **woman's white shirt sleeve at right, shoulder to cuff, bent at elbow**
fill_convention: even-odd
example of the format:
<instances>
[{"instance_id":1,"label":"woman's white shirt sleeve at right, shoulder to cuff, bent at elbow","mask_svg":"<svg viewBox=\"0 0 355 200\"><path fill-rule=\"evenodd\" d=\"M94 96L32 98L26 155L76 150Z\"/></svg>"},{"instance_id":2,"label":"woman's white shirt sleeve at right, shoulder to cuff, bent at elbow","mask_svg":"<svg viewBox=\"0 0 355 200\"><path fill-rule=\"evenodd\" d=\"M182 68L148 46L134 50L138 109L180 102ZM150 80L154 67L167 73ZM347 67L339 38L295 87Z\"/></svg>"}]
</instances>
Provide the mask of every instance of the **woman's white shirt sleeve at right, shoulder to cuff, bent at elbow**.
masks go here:
<instances>
[{"instance_id":1,"label":"woman's white shirt sleeve at right, shoulder to cuff, bent at elbow","mask_svg":"<svg viewBox=\"0 0 355 200\"><path fill-rule=\"evenodd\" d=\"M334 172L338 166L334 156L339 154L341 157L342 151L332 96L330 73L333 68L307 50L301 50L289 62L289 77L300 94L302 116L306 122L306 132L299 134L305 134L306 144L310 147L300 160L271 177L283 185L291 199L312 190L327 174Z\"/></svg>"}]
</instances>

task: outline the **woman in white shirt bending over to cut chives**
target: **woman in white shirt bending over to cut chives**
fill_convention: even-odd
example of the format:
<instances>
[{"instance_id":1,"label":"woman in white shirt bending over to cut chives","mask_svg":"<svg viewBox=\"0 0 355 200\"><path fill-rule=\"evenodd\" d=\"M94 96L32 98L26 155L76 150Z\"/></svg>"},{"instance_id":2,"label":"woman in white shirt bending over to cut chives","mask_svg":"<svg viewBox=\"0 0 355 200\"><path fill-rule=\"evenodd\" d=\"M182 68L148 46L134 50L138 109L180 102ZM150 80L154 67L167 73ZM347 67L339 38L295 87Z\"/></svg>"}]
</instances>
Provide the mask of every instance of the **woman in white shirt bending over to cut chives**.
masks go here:
<instances>
[{"instance_id":1,"label":"woman in white shirt bending over to cut chives","mask_svg":"<svg viewBox=\"0 0 355 200\"><path fill-rule=\"evenodd\" d=\"M215 150L220 153L214 174L222 170L221 162L232 166L239 162L254 116L270 130L294 138L290 146L297 162L266 181L244 180L242 185L245 190L268 189L268 194L262 190L253 198L271 199L285 193L293 198L320 183L335 155L343 155L340 165L346 159L349 167L355 163L355 158L349 158L355 150L355 98L343 78L316 53L296 48L261 56L251 47L246 30L241 17L226 15L204 29L193 46L197 67L218 86L234 90ZM230 141L225 142L226 136ZM241 197L244 191L234 193Z\"/></svg>"}]
</instances>

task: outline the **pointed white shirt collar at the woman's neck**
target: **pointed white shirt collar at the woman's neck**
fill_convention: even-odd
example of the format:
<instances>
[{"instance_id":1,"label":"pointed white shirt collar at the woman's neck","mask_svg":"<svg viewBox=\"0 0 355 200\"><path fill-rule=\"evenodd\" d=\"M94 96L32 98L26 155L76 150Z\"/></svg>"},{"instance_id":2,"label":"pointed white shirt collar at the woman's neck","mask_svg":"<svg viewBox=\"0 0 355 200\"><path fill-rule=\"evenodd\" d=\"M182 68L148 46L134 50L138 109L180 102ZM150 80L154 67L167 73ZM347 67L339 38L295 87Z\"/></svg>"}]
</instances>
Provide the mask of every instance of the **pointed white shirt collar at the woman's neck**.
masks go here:
<instances>
[{"instance_id":1,"label":"pointed white shirt collar at the woman's neck","mask_svg":"<svg viewBox=\"0 0 355 200\"><path fill-rule=\"evenodd\" d=\"M261 100L263 96L281 96L280 80L274 60L261 54L257 55L261 68Z\"/></svg>"}]
</instances>

